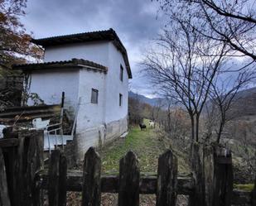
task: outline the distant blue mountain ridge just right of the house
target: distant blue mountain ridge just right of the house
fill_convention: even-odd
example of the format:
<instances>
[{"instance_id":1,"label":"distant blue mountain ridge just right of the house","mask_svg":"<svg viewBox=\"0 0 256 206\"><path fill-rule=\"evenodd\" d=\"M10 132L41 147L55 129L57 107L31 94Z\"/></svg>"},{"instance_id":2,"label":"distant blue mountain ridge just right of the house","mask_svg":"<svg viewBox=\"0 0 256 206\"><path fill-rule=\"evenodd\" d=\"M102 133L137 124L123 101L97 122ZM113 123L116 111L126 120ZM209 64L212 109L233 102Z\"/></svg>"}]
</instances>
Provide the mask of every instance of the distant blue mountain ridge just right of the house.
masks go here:
<instances>
[{"instance_id":1,"label":"distant blue mountain ridge just right of the house","mask_svg":"<svg viewBox=\"0 0 256 206\"><path fill-rule=\"evenodd\" d=\"M147 98L142 94L133 93L132 91L128 92L129 98L138 98L138 100L142 103L148 103L152 107L162 105L162 108L168 107L168 102L166 98Z\"/></svg>"}]
</instances>

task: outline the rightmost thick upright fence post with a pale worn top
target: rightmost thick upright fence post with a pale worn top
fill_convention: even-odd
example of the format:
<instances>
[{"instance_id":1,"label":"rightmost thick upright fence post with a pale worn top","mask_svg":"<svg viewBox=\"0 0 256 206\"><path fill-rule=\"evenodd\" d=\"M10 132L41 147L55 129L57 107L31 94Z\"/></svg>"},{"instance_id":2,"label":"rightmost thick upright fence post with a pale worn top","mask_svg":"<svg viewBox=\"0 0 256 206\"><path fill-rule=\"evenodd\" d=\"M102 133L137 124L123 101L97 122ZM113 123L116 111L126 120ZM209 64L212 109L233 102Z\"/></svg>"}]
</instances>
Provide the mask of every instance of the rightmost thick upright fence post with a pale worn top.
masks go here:
<instances>
[{"instance_id":1,"label":"rightmost thick upright fence post with a pale worn top","mask_svg":"<svg viewBox=\"0 0 256 206\"><path fill-rule=\"evenodd\" d=\"M233 167L231 152L215 147L213 206L230 206L233 191Z\"/></svg>"}]
</instances>

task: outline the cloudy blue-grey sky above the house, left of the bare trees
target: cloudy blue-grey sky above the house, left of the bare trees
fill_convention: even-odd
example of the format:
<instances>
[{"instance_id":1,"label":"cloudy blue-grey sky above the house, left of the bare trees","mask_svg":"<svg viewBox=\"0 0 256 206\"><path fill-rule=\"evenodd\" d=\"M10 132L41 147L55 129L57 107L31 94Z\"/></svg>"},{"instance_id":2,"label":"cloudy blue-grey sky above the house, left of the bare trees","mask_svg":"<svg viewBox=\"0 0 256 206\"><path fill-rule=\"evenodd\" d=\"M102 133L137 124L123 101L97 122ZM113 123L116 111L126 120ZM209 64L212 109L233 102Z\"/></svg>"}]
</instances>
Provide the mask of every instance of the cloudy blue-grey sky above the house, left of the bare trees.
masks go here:
<instances>
[{"instance_id":1,"label":"cloudy blue-grey sky above the house, left of the bare trees","mask_svg":"<svg viewBox=\"0 0 256 206\"><path fill-rule=\"evenodd\" d=\"M34 38L113 28L128 50L131 89L152 97L138 63L164 26L158 9L157 1L151 0L28 0L22 22Z\"/></svg>"}]
</instances>

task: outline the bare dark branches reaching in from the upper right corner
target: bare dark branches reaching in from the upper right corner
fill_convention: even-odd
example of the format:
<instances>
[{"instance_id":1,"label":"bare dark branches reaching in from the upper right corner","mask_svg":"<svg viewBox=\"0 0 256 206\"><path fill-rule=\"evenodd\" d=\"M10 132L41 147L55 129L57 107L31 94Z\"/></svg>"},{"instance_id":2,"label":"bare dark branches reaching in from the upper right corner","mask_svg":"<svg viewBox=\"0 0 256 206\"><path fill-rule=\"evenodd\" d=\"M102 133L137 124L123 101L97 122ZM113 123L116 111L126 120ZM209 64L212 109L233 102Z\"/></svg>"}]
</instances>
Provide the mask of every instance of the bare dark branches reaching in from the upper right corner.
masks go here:
<instances>
[{"instance_id":1,"label":"bare dark branches reaching in from the upper right corner","mask_svg":"<svg viewBox=\"0 0 256 206\"><path fill-rule=\"evenodd\" d=\"M196 17L191 26L210 39L222 41L235 52L256 60L256 7L254 0L160 0L162 11L186 12ZM172 12L171 12L172 15ZM204 28L204 29L202 29Z\"/></svg>"}]
</instances>

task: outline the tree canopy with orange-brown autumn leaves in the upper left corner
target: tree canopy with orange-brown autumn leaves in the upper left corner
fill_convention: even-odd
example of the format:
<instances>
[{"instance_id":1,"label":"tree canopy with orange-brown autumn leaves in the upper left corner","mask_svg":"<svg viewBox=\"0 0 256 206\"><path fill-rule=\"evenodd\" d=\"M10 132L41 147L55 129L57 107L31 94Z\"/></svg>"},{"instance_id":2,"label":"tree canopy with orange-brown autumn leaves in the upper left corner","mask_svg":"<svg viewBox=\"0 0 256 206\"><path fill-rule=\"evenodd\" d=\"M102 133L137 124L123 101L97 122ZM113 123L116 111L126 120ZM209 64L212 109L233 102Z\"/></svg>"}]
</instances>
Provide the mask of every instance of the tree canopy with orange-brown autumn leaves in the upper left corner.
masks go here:
<instances>
[{"instance_id":1,"label":"tree canopy with orange-brown autumn leaves in the upper left corner","mask_svg":"<svg viewBox=\"0 0 256 206\"><path fill-rule=\"evenodd\" d=\"M41 58L41 48L31 43L31 34L20 21L26 6L27 0L0 0L0 65L5 67L28 57Z\"/></svg>"}]
</instances>

